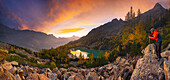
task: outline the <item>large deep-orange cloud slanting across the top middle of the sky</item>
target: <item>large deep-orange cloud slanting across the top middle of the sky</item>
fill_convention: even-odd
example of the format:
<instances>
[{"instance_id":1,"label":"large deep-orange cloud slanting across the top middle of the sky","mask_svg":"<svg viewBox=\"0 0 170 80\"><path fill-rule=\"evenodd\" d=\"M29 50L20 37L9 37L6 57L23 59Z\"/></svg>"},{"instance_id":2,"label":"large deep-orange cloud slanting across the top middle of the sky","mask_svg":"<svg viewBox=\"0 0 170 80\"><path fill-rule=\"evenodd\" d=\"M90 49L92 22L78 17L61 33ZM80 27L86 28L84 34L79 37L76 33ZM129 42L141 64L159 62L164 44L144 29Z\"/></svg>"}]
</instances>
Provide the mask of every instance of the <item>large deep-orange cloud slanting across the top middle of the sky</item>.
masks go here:
<instances>
[{"instance_id":1,"label":"large deep-orange cloud slanting across the top middle of the sky","mask_svg":"<svg viewBox=\"0 0 170 80\"><path fill-rule=\"evenodd\" d=\"M54 26L58 25L64 21L69 19L73 19L76 16L84 13L89 12L95 7L103 5L104 1L97 1L97 0L64 0L64 4L60 4L56 0L52 0L50 2L50 10L48 12L48 17L51 17L52 20L44 21L43 23ZM94 4L95 3L95 4Z\"/></svg>"}]
</instances>

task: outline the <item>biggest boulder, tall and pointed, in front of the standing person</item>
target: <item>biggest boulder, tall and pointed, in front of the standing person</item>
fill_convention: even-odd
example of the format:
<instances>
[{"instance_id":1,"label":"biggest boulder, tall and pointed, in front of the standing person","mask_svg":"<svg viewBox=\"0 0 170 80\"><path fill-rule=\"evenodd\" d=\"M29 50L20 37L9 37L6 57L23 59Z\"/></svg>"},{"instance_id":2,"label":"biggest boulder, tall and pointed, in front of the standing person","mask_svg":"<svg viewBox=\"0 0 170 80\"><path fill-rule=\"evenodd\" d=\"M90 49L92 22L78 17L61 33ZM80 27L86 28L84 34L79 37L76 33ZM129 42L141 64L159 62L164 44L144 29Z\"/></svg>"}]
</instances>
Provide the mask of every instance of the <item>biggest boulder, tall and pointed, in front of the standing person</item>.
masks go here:
<instances>
[{"instance_id":1,"label":"biggest boulder, tall and pointed, in front of the standing person","mask_svg":"<svg viewBox=\"0 0 170 80\"><path fill-rule=\"evenodd\" d=\"M163 79L163 69L155 54L154 44L148 45L143 50L143 58L137 61L136 67L131 76L131 80L161 80Z\"/></svg>"}]
</instances>

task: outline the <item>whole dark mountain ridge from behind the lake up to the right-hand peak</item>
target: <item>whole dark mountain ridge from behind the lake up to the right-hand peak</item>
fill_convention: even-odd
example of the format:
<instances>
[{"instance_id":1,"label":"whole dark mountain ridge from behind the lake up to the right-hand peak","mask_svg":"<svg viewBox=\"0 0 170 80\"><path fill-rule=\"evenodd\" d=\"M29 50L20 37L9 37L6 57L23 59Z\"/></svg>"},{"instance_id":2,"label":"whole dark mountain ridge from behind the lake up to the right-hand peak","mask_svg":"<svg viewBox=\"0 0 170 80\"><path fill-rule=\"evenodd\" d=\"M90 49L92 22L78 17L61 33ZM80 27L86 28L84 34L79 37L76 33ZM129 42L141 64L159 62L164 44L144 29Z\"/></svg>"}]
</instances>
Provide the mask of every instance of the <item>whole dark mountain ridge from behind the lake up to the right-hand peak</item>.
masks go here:
<instances>
[{"instance_id":1,"label":"whole dark mountain ridge from behind the lake up to the right-hand peak","mask_svg":"<svg viewBox=\"0 0 170 80\"><path fill-rule=\"evenodd\" d=\"M163 15L165 13L165 8L163 8L159 3L156 3L155 6L140 14L140 20L143 22L146 22L148 18L156 19L159 16ZM135 17L129 21L131 21L131 24L136 24L138 17ZM112 21L105 23L103 25L100 25L97 28L92 29L86 36L81 37L79 40L76 40L74 42L70 42L69 44L78 44L81 43L80 46L86 45L86 47L91 49L101 49L102 45L96 48L94 45L102 44L102 42L98 40L106 40L110 39L113 36L117 36L122 32L123 27L125 26L125 23L128 23L128 21L123 21L122 19L118 20L117 18L113 19ZM127 25L131 25L127 24ZM90 42L87 42L90 41ZM98 43L98 44L97 44Z\"/></svg>"}]
</instances>

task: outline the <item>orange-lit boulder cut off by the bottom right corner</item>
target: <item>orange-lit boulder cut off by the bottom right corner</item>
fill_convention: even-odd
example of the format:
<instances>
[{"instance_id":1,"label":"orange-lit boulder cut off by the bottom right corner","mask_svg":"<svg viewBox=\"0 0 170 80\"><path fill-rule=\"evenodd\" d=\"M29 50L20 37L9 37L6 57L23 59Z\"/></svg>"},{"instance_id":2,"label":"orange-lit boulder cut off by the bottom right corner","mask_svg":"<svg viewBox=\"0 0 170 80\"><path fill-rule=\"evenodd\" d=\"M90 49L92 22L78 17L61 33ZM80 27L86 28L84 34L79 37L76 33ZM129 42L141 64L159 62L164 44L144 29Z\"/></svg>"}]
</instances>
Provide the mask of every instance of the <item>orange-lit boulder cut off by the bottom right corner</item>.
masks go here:
<instances>
[{"instance_id":1,"label":"orange-lit boulder cut off by the bottom right corner","mask_svg":"<svg viewBox=\"0 0 170 80\"><path fill-rule=\"evenodd\" d=\"M164 74L165 74L165 79L170 80L170 60L164 61Z\"/></svg>"}]
</instances>

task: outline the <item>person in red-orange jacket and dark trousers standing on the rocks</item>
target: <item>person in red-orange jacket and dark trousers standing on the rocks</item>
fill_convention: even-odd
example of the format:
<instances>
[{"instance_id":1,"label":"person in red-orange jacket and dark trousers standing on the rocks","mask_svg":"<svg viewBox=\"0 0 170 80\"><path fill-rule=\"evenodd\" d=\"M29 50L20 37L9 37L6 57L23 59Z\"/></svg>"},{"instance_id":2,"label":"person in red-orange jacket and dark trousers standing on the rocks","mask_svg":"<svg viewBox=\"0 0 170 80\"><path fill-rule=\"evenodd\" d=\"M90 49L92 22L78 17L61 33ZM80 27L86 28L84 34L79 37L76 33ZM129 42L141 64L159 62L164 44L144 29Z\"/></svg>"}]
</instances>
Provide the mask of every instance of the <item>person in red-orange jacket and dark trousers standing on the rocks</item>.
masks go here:
<instances>
[{"instance_id":1,"label":"person in red-orange jacket and dark trousers standing on the rocks","mask_svg":"<svg viewBox=\"0 0 170 80\"><path fill-rule=\"evenodd\" d=\"M160 33L158 33L158 31L154 28L152 28L151 30L151 34L149 36L150 39L155 39L156 41L156 53L157 53L157 59L158 61L161 59L161 44L162 44L162 38Z\"/></svg>"}]
</instances>

